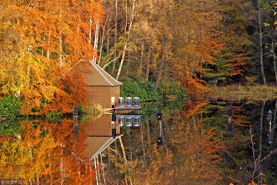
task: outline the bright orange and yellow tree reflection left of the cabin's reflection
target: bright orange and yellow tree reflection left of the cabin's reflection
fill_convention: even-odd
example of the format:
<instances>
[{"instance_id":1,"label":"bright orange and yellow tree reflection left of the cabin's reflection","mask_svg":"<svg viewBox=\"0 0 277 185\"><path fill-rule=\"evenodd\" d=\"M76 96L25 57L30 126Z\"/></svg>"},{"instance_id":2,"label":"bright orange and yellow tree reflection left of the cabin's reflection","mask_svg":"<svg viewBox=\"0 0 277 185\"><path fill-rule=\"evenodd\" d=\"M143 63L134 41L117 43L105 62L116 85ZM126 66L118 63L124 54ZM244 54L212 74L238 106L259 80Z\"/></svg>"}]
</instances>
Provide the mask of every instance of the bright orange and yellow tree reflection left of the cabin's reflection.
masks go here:
<instances>
[{"instance_id":1,"label":"bright orange and yellow tree reflection left of the cabin's reflection","mask_svg":"<svg viewBox=\"0 0 277 185\"><path fill-rule=\"evenodd\" d=\"M0 138L0 179L23 184L90 184L95 170L84 158L85 132L72 134L72 119L21 121L22 132Z\"/></svg>"}]
</instances>

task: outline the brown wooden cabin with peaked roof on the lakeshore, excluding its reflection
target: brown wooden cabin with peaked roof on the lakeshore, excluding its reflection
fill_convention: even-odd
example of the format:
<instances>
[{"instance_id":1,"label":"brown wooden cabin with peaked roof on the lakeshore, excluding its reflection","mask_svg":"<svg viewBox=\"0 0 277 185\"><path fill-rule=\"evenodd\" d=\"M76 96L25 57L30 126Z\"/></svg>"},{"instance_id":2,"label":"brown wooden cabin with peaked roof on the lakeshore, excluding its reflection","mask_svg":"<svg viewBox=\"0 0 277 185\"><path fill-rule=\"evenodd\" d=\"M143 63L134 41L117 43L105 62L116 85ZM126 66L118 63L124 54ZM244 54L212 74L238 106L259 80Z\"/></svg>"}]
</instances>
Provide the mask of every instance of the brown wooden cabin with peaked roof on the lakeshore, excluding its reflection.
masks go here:
<instances>
[{"instance_id":1,"label":"brown wooden cabin with peaked roof on the lakeshore, excluding its reflection","mask_svg":"<svg viewBox=\"0 0 277 185\"><path fill-rule=\"evenodd\" d=\"M81 59L89 64L87 59ZM120 97L120 83L110 76L106 71L100 68L97 64L90 62L88 67L90 73L85 74L85 82L88 85L86 88L89 97L89 105L94 106L98 103L102 107L111 108L116 106L117 98Z\"/></svg>"}]
</instances>

